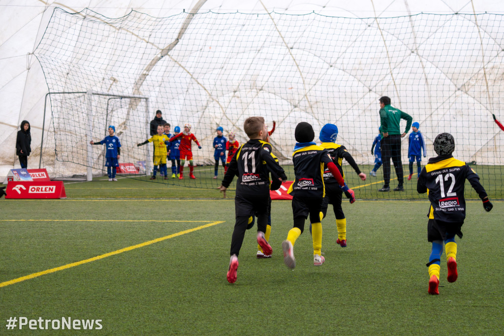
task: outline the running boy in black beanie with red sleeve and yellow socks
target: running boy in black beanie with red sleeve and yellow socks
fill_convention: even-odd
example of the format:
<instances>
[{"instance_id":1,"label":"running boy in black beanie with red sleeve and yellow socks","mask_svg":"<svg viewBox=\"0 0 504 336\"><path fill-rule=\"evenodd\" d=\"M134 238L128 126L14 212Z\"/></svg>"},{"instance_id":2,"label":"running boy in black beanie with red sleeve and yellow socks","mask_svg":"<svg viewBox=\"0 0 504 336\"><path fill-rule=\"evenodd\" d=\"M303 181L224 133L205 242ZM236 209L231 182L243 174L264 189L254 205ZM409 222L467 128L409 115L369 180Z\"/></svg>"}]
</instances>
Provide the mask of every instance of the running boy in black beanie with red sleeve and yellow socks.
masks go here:
<instances>
[{"instance_id":1,"label":"running boy in black beanie with red sleeve and yellow socks","mask_svg":"<svg viewBox=\"0 0 504 336\"><path fill-rule=\"evenodd\" d=\"M292 212L294 227L289 231L287 239L282 242L284 262L289 268L296 266L294 259L294 243L304 230L304 221L309 216L313 241L313 265L320 266L325 258L321 255L322 248L322 223L321 210L325 196L324 164L338 181L345 195L350 198L350 203L355 201L355 195L345 184L341 174L329 156L329 152L313 142L315 133L310 124L302 122L297 124L294 136L296 146L292 153L294 174L296 179L287 191L293 196Z\"/></svg>"}]
</instances>

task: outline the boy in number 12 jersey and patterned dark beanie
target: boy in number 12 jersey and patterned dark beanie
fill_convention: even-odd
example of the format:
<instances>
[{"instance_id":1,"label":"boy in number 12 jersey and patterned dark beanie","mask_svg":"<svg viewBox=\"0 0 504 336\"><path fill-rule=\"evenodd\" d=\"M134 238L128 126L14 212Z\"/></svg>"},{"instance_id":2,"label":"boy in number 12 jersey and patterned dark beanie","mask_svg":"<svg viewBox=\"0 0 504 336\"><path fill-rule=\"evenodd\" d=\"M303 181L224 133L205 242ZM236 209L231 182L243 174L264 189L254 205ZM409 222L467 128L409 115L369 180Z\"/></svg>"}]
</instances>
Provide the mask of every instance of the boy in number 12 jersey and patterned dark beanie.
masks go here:
<instances>
[{"instance_id":1,"label":"boy in number 12 jersey and patterned dark beanie","mask_svg":"<svg viewBox=\"0 0 504 336\"><path fill-rule=\"evenodd\" d=\"M471 167L453 157L455 139L449 133L441 133L434 139L434 151L438 155L428 160L423 167L417 183L420 194L428 193L429 221L427 224L427 239L432 243L432 250L427 266L429 267L429 294L439 294L439 264L445 244L448 266L448 282L457 280L457 244L455 235L462 238L462 225L466 217L466 202L464 199L465 180L483 201L483 207L490 211L493 207L485 189L479 183L478 175Z\"/></svg>"}]
</instances>

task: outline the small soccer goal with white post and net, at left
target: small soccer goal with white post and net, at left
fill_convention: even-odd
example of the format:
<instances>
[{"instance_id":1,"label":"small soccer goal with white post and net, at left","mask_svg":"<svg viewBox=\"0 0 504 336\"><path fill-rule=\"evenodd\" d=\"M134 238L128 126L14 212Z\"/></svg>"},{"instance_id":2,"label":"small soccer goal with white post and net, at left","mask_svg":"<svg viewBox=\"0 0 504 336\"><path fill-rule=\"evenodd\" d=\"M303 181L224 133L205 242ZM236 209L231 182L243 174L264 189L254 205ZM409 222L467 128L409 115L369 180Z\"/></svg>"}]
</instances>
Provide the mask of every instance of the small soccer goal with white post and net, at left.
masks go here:
<instances>
[{"instance_id":1,"label":"small soccer goal with white post and net, at left","mask_svg":"<svg viewBox=\"0 0 504 336\"><path fill-rule=\"evenodd\" d=\"M98 142L108 136L109 125L115 127L121 141L121 162L133 164L138 174L150 173L151 160L147 158L151 149L134 146L150 137L148 97L96 91L57 92L50 94L50 102L49 134L54 136L52 177L91 181L93 176L102 176L106 172L105 148L92 146L90 141ZM49 139L45 147L51 142Z\"/></svg>"}]
</instances>

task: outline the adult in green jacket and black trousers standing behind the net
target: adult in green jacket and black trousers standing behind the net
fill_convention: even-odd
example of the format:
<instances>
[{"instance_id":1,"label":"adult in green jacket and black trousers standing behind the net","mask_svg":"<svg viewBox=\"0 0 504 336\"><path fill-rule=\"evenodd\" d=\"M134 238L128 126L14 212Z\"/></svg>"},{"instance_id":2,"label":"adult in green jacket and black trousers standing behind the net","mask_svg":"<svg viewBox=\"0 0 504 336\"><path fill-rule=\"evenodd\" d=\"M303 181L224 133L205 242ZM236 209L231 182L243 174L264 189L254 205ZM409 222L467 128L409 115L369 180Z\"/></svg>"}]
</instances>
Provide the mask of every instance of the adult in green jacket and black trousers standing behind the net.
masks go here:
<instances>
[{"instance_id":1,"label":"adult in green jacket and black trousers standing behind the net","mask_svg":"<svg viewBox=\"0 0 504 336\"><path fill-rule=\"evenodd\" d=\"M406 129L401 133L401 119L406 120ZM403 164L401 162L401 138L408 134L413 118L390 105L390 98L380 98L380 123L382 134L383 178L385 184L378 191L390 191L390 159L394 162L398 185L394 191L404 191Z\"/></svg>"}]
</instances>

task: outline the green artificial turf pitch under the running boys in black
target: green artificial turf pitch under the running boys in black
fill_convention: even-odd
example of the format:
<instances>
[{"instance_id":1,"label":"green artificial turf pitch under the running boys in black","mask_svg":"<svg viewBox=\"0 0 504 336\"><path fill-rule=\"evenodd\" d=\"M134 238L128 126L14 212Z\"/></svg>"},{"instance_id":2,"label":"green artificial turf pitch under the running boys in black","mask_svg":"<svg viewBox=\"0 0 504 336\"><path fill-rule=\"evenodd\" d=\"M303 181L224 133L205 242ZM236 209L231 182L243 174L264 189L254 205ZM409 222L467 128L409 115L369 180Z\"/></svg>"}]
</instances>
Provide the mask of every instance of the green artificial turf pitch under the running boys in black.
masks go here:
<instances>
[{"instance_id":1,"label":"green artificial turf pitch under the running boys in black","mask_svg":"<svg viewBox=\"0 0 504 336\"><path fill-rule=\"evenodd\" d=\"M101 319L103 329L93 333L105 334L504 332L499 201L490 213L480 201L468 202L464 238L457 239L459 278L447 283L442 262L440 295L430 296L425 201L345 201L348 247L336 244L329 211L326 263L313 266L306 222L294 270L285 267L281 252L292 228L291 204L273 201L273 257L256 259L257 226L247 231L238 279L230 285L233 193L202 199L220 194L131 179L66 184L66 191L66 200L0 200L0 283L167 238L0 285L2 334L34 332L28 326L7 330L11 316ZM213 225L170 236L206 224Z\"/></svg>"}]
</instances>

